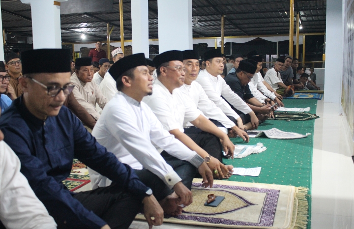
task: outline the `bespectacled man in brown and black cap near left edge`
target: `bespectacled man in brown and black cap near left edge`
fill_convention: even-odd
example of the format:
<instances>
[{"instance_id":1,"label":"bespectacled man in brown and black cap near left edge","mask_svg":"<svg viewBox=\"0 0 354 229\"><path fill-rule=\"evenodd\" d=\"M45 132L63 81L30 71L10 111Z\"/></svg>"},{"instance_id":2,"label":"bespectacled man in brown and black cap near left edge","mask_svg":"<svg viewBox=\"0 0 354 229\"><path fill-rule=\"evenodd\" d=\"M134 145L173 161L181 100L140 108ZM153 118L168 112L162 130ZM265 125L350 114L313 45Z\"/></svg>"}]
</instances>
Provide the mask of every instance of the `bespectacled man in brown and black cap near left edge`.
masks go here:
<instances>
[{"instance_id":1,"label":"bespectacled man in brown and black cap near left edge","mask_svg":"<svg viewBox=\"0 0 354 229\"><path fill-rule=\"evenodd\" d=\"M15 90L16 97L22 95L22 88L19 85L19 77L22 76L21 59L16 53L10 53L5 57L5 69L11 76L10 85Z\"/></svg>"}]
</instances>

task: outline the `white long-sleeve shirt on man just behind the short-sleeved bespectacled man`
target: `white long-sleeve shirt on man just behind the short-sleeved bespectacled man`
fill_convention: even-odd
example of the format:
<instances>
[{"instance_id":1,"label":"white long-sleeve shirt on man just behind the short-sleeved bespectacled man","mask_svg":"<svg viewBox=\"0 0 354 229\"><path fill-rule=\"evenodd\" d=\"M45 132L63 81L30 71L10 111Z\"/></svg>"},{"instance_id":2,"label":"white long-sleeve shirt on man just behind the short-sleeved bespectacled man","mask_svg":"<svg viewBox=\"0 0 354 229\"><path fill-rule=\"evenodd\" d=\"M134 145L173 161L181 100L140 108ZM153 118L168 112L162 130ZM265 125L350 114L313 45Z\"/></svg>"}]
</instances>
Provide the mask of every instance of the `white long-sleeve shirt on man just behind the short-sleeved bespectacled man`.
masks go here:
<instances>
[{"instance_id":1,"label":"white long-sleeve shirt on man just behind the short-sleeved bespectacled man","mask_svg":"<svg viewBox=\"0 0 354 229\"><path fill-rule=\"evenodd\" d=\"M219 121L226 128L235 126L220 108L218 108L213 101L211 101L205 93L203 87L197 82L193 81L191 85L184 84L180 91L185 93L193 102L193 104L204 114L207 118ZM184 122L183 127L193 126L190 122Z\"/></svg>"}]
</instances>

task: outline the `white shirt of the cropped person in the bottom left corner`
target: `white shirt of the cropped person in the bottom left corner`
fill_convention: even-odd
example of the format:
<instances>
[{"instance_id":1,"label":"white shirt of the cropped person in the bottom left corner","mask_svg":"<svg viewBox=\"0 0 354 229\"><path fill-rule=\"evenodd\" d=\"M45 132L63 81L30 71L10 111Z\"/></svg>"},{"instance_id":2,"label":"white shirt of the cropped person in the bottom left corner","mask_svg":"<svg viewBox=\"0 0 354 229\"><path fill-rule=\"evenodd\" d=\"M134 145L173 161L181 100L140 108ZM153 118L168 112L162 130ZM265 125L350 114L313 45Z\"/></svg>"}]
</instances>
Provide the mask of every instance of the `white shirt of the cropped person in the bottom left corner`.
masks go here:
<instances>
[{"instance_id":1,"label":"white shirt of the cropped person in the bottom left corner","mask_svg":"<svg viewBox=\"0 0 354 229\"><path fill-rule=\"evenodd\" d=\"M57 224L20 172L20 160L0 141L0 220L7 229L56 229Z\"/></svg>"}]
</instances>

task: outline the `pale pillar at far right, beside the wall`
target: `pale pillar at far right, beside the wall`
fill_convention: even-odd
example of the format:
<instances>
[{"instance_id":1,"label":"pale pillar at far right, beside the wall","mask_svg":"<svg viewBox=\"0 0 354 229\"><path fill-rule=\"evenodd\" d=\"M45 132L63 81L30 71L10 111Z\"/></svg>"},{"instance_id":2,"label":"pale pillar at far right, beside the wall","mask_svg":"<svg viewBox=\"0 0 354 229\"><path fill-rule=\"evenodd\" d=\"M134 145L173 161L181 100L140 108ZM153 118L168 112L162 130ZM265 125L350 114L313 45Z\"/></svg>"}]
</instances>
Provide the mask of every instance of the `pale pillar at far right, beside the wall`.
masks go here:
<instances>
[{"instance_id":1,"label":"pale pillar at far right, beside the wall","mask_svg":"<svg viewBox=\"0 0 354 229\"><path fill-rule=\"evenodd\" d=\"M343 8L340 0L327 0L324 102L340 103L343 73Z\"/></svg>"}]
</instances>

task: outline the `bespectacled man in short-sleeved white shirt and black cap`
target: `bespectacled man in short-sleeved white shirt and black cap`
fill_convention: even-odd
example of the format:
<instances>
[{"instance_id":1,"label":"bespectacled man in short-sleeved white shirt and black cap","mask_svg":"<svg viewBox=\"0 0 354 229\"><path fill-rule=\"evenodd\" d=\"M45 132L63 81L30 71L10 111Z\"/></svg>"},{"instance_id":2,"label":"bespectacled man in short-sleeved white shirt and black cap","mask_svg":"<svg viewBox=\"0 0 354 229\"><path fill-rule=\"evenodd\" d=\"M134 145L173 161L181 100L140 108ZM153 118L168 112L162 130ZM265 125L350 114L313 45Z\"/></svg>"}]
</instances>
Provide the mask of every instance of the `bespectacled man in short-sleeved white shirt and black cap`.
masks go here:
<instances>
[{"instance_id":1,"label":"bespectacled man in short-sleeved white shirt and black cap","mask_svg":"<svg viewBox=\"0 0 354 229\"><path fill-rule=\"evenodd\" d=\"M180 91L179 87L183 86L185 76L182 52L167 51L156 56L153 61L157 66L157 79L153 85L153 94L144 97L143 101L166 130L204 158L216 178L229 177L233 167L222 164L219 138L223 141L224 151L231 157L235 146L229 137L201 115L190 99ZM196 128L188 128L192 132L186 134L183 129L184 122L191 122ZM166 160L171 157L165 151L161 155Z\"/></svg>"}]
</instances>

